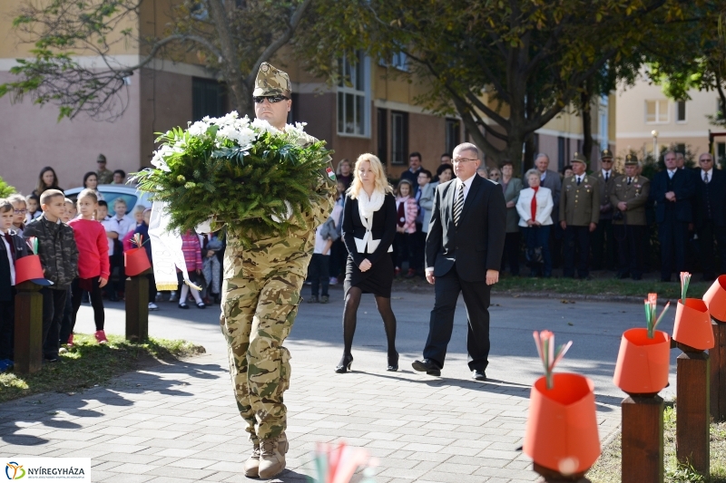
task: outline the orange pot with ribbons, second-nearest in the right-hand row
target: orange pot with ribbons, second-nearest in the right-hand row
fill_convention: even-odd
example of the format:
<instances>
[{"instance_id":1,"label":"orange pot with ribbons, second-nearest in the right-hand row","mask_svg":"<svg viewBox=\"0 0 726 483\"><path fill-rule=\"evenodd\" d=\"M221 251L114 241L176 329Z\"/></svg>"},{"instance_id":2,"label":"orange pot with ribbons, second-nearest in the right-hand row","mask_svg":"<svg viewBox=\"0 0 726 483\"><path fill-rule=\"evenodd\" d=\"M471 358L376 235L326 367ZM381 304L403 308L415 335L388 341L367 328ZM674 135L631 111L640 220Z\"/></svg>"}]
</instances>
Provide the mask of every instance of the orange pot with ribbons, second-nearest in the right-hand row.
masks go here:
<instances>
[{"instance_id":1,"label":"orange pot with ribbons, second-nearest in the right-hand row","mask_svg":"<svg viewBox=\"0 0 726 483\"><path fill-rule=\"evenodd\" d=\"M620 341L614 384L629 394L651 394L668 385L671 360L671 337L648 329L629 329Z\"/></svg>"}]
</instances>

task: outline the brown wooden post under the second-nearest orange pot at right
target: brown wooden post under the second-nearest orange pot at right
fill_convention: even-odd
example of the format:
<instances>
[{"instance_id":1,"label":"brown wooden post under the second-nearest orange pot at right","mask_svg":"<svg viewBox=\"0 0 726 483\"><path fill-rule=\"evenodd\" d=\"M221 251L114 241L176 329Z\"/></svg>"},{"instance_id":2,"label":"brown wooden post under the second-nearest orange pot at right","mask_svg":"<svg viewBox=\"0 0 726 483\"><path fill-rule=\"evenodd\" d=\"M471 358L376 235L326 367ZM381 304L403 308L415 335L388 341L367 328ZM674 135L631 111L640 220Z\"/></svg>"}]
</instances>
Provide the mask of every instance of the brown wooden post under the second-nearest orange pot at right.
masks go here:
<instances>
[{"instance_id":1,"label":"brown wooden post under the second-nearest orange pot at right","mask_svg":"<svg viewBox=\"0 0 726 483\"><path fill-rule=\"evenodd\" d=\"M621 403L623 483L663 482L663 400L631 395Z\"/></svg>"}]
</instances>

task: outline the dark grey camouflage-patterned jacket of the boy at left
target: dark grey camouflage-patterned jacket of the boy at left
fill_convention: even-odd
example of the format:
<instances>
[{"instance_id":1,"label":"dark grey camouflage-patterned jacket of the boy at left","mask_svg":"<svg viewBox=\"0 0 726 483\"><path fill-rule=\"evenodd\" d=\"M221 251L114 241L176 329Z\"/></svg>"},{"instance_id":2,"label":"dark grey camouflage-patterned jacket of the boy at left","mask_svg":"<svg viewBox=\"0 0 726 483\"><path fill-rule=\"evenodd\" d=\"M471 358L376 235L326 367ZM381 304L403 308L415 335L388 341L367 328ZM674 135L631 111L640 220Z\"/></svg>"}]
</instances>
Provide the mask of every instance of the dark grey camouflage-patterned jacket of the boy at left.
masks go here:
<instances>
[{"instance_id":1,"label":"dark grey camouflage-patterned jacket of the boy at left","mask_svg":"<svg viewBox=\"0 0 726 483\"><path fill-rule=\"evenodd\" d=\"M58 220L51 223L37 217L25 226L25 239L38 239L38 255L45 278L53 282L51 288L65 290L78 276L78 246L75 244L74 229Z\"/></svg>"}]
</instances>

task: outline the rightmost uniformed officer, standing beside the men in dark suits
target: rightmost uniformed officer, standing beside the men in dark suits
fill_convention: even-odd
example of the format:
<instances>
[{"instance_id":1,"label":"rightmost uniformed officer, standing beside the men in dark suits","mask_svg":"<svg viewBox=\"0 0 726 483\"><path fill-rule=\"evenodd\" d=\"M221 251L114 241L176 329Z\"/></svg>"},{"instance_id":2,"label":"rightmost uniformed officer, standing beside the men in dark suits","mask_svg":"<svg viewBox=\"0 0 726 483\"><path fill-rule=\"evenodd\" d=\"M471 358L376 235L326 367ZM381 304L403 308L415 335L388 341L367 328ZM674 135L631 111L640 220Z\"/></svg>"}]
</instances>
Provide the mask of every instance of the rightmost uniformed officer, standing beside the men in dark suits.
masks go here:
<instances>
[{"instance_id":1,"label":"rightmost uniformed officer, standing beside the men in dark suits","mask_svg":"<svg viewBox=\"0 0 726 483\"><path fill-rule=\"evenodd\" d=\"M613 230L618 242L617 278L643 278L643 238L647 234L645 203L651 192L651 182L638 174L638 159L625 156L625 175L615 179L610 203L617 211Z\"/></svg>"}]
</instances>

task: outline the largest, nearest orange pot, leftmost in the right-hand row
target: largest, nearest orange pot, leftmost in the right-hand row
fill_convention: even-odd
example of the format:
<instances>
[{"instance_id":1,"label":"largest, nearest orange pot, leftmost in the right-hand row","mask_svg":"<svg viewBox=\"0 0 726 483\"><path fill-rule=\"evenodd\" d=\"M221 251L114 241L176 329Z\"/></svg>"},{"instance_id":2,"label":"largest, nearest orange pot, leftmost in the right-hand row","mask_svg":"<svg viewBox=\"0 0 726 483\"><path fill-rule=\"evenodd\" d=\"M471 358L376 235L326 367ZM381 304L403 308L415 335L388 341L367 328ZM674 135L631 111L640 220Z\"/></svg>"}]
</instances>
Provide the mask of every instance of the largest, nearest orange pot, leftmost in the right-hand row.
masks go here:
<instances>
[{"instance_id":1,"label":"largest, nearest orange pot, leftmost in the right-hand row","mask_svg":"<svg viewBox=\"0 0 726 483\"><path fill-rule=\"evenodd\" d=\"M525 454L540 466L573 475L600 456L594 384L580 374L554 374L554 387L539 378L532 386Z\"/></svg>"}]
</instances>

